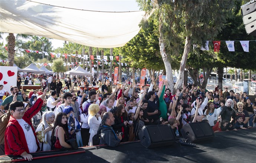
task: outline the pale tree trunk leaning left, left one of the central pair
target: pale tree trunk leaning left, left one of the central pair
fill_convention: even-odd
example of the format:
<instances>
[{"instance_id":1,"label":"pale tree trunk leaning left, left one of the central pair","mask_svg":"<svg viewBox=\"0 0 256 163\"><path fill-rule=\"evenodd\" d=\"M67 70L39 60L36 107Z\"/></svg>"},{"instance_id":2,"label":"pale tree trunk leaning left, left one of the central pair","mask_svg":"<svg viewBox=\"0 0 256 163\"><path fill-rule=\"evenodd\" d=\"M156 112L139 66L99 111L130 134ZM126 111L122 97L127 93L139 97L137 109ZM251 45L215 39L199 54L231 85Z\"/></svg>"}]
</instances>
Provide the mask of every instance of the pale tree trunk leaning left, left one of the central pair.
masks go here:
<instances>
[{"instance_id":1,"label":"pale tree trunk leaning left, left one of the central pair","mask_svg":"<svg viewBox=\"0 0 256 163\"><path fill-rule=\"evenodd\" d=\"M162 19L161 16L159 16L159 47L160 47L160 54L161 57L164 61L164 67L165 67L165 71L166 71L166 79L168 80L168 84L167 87L170 88L171 92L174 93L173 90L173 70L171 68L171 63L170 60L168 59L168 54L165 51L165 43L164 43L164 37L163 37L163 33L162 33Z\"/></svg>"}]
</instances>

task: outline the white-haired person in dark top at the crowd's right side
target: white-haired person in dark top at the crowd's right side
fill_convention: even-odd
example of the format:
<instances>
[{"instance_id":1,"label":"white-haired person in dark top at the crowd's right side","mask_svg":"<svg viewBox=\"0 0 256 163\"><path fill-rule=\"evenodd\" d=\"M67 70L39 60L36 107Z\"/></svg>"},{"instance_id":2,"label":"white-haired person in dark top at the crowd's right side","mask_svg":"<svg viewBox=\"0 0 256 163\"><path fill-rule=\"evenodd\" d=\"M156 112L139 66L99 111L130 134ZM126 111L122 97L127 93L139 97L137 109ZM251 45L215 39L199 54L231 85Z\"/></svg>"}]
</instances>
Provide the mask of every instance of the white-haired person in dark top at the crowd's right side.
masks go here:
<instances>
[{"instance_id":1,"label":"white-haired person in dark top at the crowd's right side","mask_svg":"<svg viewBox=\"0 0 256 163\"><path fill-rule=\"evenodd\" d=\"M234 102L231 99L227 99L225 106L220 112L222 120L230 121L231 117L236 118L236 111L234 110ZM234 123L234 122L233 122Z\"/></svg>"}]
</instances>

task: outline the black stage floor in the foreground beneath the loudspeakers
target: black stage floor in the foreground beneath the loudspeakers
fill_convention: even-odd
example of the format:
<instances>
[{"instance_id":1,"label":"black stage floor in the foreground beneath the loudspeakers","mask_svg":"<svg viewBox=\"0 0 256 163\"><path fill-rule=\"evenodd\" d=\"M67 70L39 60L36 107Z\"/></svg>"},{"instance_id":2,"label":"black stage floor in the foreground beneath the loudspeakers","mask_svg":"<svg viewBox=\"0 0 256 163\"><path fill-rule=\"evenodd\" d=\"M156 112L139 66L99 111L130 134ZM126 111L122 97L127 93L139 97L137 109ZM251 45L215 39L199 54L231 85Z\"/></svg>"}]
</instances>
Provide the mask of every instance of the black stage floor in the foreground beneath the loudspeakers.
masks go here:
<instances>
[{"instance_id":1,"label":"black stage floor in the foreground beneath the loudspeakers","mask_svg":"<svg viewBox=\"0 0 256 163\"><path fill-rule=\"evenodd\" d=\"M145 148L140 142L119 144L117 147L83 147L82 153L34 159L36 163L255 163L256 128L215 133L206 142L196 142L197 147L172 146ZM78 151L78 152L79 152ZM57 151L55 151L57 152ZM43 152L45 153L45 152ZM42 156L42 153L33 154ZM10 157L10 156L9 156ZM3 156L0 157L3 161ZM21 160L13 160L23 162Z\"/></svg>"}]
</instances>

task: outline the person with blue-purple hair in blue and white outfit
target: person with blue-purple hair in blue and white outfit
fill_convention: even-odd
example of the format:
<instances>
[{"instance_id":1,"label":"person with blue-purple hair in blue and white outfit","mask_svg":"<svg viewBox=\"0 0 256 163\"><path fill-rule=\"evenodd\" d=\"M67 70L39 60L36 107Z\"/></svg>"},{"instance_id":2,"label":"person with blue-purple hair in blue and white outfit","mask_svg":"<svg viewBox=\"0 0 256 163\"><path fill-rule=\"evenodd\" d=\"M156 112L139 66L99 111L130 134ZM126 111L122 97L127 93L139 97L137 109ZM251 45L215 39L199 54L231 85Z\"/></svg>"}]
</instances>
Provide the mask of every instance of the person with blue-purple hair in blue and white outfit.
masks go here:
<instances>
[{"instance_id":1,"label":"person with blue-purple hair in blue and white outfit","mask_svg":"<svg viewBox=\"0 0 256 163\"><path fill-rule=\"evenodd\" d=\"M76 117L73 114L74 110L71 106L66 106L63 109L63 113L67 114L68 117L68 131L69 138L76 139L78 147L83 146L82 136L81 136L81 125Z\"/></svg>"}]
</instances>

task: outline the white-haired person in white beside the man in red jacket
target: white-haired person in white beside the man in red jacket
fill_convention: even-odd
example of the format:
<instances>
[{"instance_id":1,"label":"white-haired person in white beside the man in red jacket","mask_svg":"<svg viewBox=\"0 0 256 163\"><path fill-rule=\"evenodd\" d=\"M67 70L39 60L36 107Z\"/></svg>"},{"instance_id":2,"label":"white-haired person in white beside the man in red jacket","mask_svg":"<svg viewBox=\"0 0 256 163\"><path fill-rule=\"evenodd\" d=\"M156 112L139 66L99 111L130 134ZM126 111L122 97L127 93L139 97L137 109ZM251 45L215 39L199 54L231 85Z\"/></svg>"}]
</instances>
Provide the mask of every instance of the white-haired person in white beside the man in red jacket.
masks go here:
<instances>
[{"instance_id":1,"label":"white-haired person in white beside the man in red jacket","mask_svg":"<svg viewBox=\"0 0 256 163\"><path fill-rule=\"evenodd\" d=\"M51 135L55 114L47 111L42 115L42 122L37 126L36 137L39 141L40 151L51 150Z\"/></svg>"}]
</instances>

